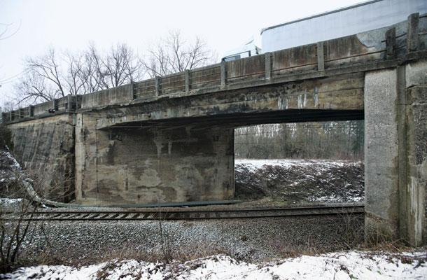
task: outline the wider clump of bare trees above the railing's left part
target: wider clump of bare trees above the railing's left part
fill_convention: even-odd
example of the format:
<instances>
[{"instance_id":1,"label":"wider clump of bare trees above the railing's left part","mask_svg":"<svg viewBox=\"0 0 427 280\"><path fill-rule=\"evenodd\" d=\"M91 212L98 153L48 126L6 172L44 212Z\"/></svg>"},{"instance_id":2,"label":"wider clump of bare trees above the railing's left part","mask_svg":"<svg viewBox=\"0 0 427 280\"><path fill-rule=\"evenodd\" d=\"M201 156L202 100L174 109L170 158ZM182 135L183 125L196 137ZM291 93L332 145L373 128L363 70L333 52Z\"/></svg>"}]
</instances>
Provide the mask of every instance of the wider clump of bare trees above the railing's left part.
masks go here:
<instances>
[{"instance_id":1,"label":"wider clump of bare trees above the railing's left part","mask_svg":"<svg viewBox=\"0 0 427 280\"><path fill-rule=\"evenodd\" d=\"M15 92L18 104L34 104L125 85L142 76L139 57L124 43L113 45L105 54L94 44L77 53L57 53L50 47L44 55L25 59Z\"/></svg>"}]
</instances>

